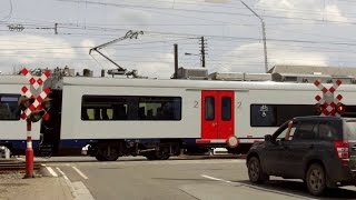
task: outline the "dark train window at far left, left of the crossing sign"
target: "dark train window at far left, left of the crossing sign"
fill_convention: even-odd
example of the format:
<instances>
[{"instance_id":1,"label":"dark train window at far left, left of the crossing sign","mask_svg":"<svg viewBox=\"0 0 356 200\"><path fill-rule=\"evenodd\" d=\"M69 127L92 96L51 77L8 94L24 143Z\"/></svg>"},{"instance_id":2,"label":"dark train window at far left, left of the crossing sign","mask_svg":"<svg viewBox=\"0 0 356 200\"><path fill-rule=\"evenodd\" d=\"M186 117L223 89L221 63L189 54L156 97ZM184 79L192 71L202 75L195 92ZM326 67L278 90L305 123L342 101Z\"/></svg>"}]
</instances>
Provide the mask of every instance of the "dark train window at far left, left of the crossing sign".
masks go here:
<instances>
[{"instance_id":1,"label":"dark train window at far left, left of the crossing sign","mask_svg":"<svg viewBox=\"0 0 356 200\"><path fill-rule=\"evenodd\" d=\"M20 94L0 94L0 120L20 120Z\"/></svg>"}]
</instances>

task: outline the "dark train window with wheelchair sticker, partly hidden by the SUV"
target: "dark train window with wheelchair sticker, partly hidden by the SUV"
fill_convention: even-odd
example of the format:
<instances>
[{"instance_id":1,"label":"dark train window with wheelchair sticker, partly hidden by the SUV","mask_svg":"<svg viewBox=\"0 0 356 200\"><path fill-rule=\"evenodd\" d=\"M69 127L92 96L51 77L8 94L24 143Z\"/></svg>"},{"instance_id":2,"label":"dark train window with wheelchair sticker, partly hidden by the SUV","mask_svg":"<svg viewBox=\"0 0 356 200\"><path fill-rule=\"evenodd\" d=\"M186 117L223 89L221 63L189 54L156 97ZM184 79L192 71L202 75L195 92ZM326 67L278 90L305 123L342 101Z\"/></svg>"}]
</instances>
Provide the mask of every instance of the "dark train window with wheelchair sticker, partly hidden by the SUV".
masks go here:
<instances>
[{"instance_id":1,"label":"dark train window with wheelchair sticker, partly hidden by the SUV","mask_svg":"<svg viewBox=\"0 0 356 200\"><path fill-rule=\"evenodd\" d=\"M251 104L251 127L279 127L295 117L315 116L315 104Z\"/></svg>"}]
</instances>

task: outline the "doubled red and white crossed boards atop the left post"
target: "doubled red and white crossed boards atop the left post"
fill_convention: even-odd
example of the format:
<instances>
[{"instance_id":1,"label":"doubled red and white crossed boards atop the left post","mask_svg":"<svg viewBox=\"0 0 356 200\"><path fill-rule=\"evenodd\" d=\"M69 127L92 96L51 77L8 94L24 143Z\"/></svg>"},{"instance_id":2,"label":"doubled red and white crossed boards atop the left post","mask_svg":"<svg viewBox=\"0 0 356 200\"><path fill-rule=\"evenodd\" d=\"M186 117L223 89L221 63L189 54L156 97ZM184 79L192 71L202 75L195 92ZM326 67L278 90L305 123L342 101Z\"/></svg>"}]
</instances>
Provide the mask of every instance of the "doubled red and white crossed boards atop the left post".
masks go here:
<instances>
[{"instance_id":1,"label":"doubled red and white crossed boards atop the left post","mask_svg":"<svg viewBox=\"0 0 356 200\"><path fill-rule=\"evenodd\" d=\"M43 84L43 82L50 77L50 72L49 71L44 71L44 73L39 77L39 78L34 78L31 76L31 73L23 68L21 70L21 73L29 80L31 87L34 88L34 91L37 91L39 89L40 86ZM33 112L34 110L42 110L41 108L41 103L43 101L43 99L47 98L47 96L50 92L49 88L43 89L38 96L33 94L30 89L28 89L26 86L23 86L21 88L21 91L23 93L23 96L26 96L27 98L33 98L34 101L32 104L30 104L24 111L22 111L21 113L21 118L22 119L27 119L31 112ZM49 119L49 114L44 111L44 114L42 116L43 120L48 120Z\"/></svg>"}]
</instances>

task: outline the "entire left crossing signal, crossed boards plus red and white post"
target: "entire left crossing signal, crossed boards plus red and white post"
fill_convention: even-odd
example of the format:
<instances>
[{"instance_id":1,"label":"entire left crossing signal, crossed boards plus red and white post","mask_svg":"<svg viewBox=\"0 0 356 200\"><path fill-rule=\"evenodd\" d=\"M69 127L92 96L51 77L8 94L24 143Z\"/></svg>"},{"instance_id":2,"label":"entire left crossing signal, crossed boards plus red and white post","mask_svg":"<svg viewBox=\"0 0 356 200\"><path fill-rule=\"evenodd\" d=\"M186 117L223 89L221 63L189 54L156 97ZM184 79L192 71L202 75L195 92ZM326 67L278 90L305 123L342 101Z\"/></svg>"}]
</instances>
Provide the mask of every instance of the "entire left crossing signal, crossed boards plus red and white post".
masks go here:
<instances>
[{"instance_id":1,"label":"entire left crossing signal, crossed boards plus red and white post","mask_svg":"<svg viewBox=\"0 0 356 200\"><path fill-rule=\"evenodd\" d=\"M48 120L49 114L43 110L41 103L50 92L49 88L41 90L41 86L50 77L50 72L46 71L41 77L34 78L23 68L21 73L28 79L30 89L26 86L21 88L24 98L20 100L22 107L21 119L27 121L27 148L26 148L26 176L24 178L33 178L33 149L31 139L31 123L40 119ZM31 92L33 90L33 92Z\"/></svg>"}]
</instances>

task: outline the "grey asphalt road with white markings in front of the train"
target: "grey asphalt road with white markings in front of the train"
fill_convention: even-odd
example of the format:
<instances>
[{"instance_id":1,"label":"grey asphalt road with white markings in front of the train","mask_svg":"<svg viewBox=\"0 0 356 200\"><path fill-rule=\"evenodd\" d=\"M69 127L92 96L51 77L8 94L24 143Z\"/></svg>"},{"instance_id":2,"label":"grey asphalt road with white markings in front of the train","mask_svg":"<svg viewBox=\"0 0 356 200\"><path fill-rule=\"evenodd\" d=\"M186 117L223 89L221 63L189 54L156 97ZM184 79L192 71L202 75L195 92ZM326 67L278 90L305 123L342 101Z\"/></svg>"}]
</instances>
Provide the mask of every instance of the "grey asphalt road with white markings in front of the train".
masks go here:
<instances>
[{"instance_id":1,"label":"grey asphalt road with white markings in front of the train","mask_svg":"<svg viewBox=\"0 0 356 200\"><path fill-rule=\"evenodd\" d=\"M245 160L166 160L120 158L97 162L89 158L48 160L78 186L83 198L111 199L316 199L299 180L271 177L264 184L250 184ZM86 193L87 191L87 193ZM356 187L329 190L323 199L356 199Z\"/></svg>"}]
</instances>

